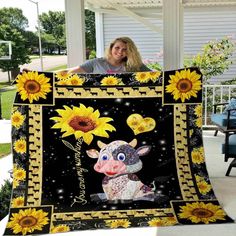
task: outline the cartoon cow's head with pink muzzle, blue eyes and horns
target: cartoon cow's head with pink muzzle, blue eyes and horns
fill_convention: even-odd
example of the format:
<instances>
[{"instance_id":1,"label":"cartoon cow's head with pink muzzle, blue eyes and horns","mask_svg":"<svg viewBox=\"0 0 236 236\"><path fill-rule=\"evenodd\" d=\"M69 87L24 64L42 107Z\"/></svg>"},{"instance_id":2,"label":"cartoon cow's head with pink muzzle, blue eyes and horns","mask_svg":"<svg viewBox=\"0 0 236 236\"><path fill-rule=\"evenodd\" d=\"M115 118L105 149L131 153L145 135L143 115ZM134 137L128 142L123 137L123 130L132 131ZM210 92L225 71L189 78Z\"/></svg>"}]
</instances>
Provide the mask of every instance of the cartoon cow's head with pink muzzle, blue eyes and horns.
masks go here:
<instances>
[{"instance_id":1,"label":"cartoon cow's head with pink muzzle, blue eyes and horns","mask_svg":"<svg viewBox=\"0 0 236 236\"><path fill-rule=\"evenodd\" d=\"M90 149L87 154L89 157L98 158L94 169L99 173L104 173L110 177L135 173L142 169L142 161L139 156L146 155L150 151L150 146L134 149L136 143L136 140L130 143L118 140L108 145L101 145L100 142L100 152Z\"/></svg>"}]
</instances>

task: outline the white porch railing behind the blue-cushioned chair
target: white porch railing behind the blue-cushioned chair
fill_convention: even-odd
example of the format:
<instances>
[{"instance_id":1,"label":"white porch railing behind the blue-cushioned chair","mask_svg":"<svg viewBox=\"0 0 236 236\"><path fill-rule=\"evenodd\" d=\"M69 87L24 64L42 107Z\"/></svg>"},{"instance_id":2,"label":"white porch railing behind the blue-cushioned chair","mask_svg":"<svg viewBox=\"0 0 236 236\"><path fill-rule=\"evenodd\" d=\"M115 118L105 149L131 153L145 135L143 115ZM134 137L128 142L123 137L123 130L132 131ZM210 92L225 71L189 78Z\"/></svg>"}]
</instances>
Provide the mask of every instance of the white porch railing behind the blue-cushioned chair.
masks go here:
<instances>
[{"instance_id":1,"label":"white porch railing behind the blue-cushioned chair","mask_svg":"<svg viewBox=\"0 0 236 236\"><path fill-rule=\"evenodd\" d=\"M211 127L210 115L213 113L213 104L228 102L236 98L235 85L204 85L203 86L203 127ZM219 112L223 107L219 107Z\"/></svg>"}]
</instances>

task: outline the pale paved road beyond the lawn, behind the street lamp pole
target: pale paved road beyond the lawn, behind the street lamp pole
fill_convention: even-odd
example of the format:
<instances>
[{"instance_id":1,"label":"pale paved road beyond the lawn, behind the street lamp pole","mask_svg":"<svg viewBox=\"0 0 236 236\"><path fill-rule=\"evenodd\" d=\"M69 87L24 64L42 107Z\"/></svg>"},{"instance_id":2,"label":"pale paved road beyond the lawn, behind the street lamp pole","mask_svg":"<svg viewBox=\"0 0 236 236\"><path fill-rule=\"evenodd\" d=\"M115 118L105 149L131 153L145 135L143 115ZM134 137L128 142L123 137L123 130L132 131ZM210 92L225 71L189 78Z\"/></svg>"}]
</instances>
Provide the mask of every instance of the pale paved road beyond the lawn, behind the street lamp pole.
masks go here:
<instances>
[{"instance_id":1,"label":"pale paved road beyond the lawn, behind the street lamp pole","mask_svg":"<svg viewBox=\"0 0 236 236\"><path fill-rule=\"evenodd\" d=\"M46 71L53 67L61 66L67 64L67 56L43 56L43 70ZM31 63L24 64L20 68L27 68L30 70L41 71L40 59L33 59ZM0 82L8 81L7 72L2 72L0 70Z\"/></svg>"}]
</instances>

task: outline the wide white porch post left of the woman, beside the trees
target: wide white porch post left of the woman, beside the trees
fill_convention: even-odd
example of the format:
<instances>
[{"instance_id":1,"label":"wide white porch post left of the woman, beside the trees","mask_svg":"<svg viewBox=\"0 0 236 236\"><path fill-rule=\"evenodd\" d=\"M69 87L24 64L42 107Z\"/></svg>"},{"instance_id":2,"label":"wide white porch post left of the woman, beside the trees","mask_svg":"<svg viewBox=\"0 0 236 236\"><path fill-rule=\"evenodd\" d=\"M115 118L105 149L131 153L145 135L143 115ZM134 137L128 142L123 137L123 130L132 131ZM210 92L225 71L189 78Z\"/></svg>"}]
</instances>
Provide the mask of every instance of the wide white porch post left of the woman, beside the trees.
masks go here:
<instances>
[{"instance_id":1,"label":"wide white porch post left of the woman, beside the trees","mask_svg":"<svg viewBox=\"0 0 236 236\"><path fill-rule=\"evenodd\" d=\"M86 60L84 0L65 0L67 66Z\"/></svg>"}]
</instances>

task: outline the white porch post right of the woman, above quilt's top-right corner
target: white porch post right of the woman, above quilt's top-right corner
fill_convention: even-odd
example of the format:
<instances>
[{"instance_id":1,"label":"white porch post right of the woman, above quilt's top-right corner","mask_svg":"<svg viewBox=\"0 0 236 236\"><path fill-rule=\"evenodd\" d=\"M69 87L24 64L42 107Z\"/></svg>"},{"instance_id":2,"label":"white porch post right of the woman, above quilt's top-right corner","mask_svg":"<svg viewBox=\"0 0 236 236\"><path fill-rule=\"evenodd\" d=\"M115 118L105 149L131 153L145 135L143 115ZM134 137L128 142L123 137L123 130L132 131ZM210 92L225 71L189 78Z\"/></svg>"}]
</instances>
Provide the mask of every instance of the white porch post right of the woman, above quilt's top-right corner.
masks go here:
<instances>
[{"instance_id":1,"label":"white porch post right of the woman, above quilt's top-right corner","mask_svg":"<svg viewBox=\"0 0 236 236\"><path fill-rule=\"evenodd\" d=\"M163 1L164 70L183 67L182 0Z\"/></svg>"}]
</instances>

